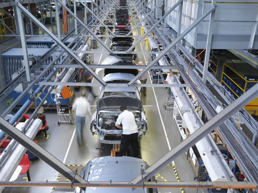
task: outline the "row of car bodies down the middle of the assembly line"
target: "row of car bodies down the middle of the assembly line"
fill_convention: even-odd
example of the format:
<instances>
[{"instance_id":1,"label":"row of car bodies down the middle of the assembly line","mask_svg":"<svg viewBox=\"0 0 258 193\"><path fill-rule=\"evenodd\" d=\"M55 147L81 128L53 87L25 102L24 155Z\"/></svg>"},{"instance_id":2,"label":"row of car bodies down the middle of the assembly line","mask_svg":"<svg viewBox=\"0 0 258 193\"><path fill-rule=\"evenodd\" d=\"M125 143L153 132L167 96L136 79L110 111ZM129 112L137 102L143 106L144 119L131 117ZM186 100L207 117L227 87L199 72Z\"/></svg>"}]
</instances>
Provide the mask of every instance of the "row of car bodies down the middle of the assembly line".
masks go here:
<instances>
[{"instance_id":1,"label":"row of car bodies down the middle of the assembly line","mask_svg":"<svg viewBox=\"0 0 258 193\"><path fill-rule=\"evenodd\" d=\"M127 34L130 30L115 29L115 34ZM133 45L132 37L112 37L110 49L115 51L126 51ZM104 59L106 65L134 65L133 60L136 54L110 54ZM103 80L106 83L127 84L138 74L137 69L104 69ZM140 80L136 84L141 84ZM133 112L136 125L138 126L138 139L145 135L147 131L147 118L143 110L141 101L141 87L100 87L99 100L96 102L96 110L93 113L90 130L92 135L99 135L99 142L106 144L120 144L122 129L115 126L120 115L120 106L125 105L128 111ZM110 181L131 181L136 178L141 171L148 168L148 164L142 159L135 157L112 157L104 156L90 160L80 172L80 176L87 180L110 182ZM148 181L155 181L153 176ZM106 188L87 187L90 192L132 192L132 188ZM134 192L153 193L158 192L157 188L137 188ZM76 187L75 193L84 193L82 189Z\"/></svg>"}]
</instances>

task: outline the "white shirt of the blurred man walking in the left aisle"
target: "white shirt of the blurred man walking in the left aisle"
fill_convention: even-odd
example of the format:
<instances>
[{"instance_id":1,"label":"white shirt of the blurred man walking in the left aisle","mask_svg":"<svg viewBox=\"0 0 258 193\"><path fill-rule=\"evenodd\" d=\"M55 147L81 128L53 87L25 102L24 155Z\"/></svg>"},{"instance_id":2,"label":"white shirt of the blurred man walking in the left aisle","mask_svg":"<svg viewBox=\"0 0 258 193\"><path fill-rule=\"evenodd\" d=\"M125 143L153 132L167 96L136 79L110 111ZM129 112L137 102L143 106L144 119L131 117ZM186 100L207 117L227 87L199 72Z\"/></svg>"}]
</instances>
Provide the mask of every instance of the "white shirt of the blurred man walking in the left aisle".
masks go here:
<instances>
[{"instance_id":1,"label":"white shirt of the blurred man walking in the left aisle","mask_svg":"<svg viewBox=\"0 0 258 193\"><path fill-rule=\"evenodd\" d=\"M86 117L87 110L88 112L91 111L90 104L85 96L80 96L74 100L72 104L72 109L76 109L76 116L77 117Z\"/></svg>"}]
</instances>

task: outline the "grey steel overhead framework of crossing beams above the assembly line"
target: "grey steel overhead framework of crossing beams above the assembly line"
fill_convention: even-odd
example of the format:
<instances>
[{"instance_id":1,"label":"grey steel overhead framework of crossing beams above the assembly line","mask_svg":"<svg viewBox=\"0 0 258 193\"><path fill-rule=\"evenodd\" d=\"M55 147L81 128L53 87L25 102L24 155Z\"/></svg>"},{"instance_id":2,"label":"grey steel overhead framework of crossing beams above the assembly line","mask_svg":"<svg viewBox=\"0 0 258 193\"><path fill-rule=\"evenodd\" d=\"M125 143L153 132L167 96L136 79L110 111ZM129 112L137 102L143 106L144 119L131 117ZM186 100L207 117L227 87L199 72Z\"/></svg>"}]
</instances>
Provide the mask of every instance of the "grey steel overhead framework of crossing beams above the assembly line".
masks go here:
<instances>
[{"instance_id":1,"label":"grey steel overhead framework of crossing beams above the assembly line","mask_svg":"<svg viewBox=\"0 0 258 193\"><path fill-rule=\"evenodd\" d=\"M56 0L56 6L58 3L63 6L69 12L74 19L79 22L80 26L76 28L76 30L73 30L73 33L77 31L77 29L80 27L82 28L82 31L77 35L75 33L75 40L78 38L81 39L82 33L85 31L84 37L94 37L99 43L107 49L107 51L72 51L68 47L74 42L71 42L68 46L65 46L63 43L69 36L61 40L60 31L58 30L58 37L56 37L53 33L51 33L41 22L39 22L25 7L22 6L21 2L18 0L15 1L14 6L19 10L19 13L26 14L31 21L33 21L36 25L38 25L39 28L41 28L46 34L48 34L57 44L55 49L52 49L47 57L49 57L57 48L62 49L61 54L56 57L52 61L51 64L37 64L33 68L29 68L28 60L26 60L27 56L25 56L25 67L26 67L26 80L25 76L19 80L18 83L28 83L28 87L21 93L18 99L16 99L9 108L7 108L4 113L2 113L0 117L0 129L2 132L5 132L9 136L11 136L15 141L26 147L29 151L37 155L40 159L42 159L44 162L52 166L55 170L63 174L67 179L74 181L73 186L81 187L85 190L85 187L130 187L130 188L142 188L144 187L162 187L162 188L257 188L257 182L258 182L258 151L254 147L253 143L257 142L257 133L258 133L258 123L250 117L247 117L247 114L245 113L245 110L242 110L243 113L240 115L241 119L243 118L245 124L247 127L252 130L254 133L253 143L249 139L245 139L243 131L239 129L235 122L231 120L231 116L242 109L246 104L248 104L250 101L252 101L255 97L257 97L257 91L258 91L258 84L254 85L252 88L250 88L247 92L245 92L243 95L241 95L237 100L229 100L228 98L228 92L221 93L220 89L217 86L214 86L215 89L218 91L218 93L225 99L225 101L228 103L228 106L221 111L220 113L216 113L215 109L217 107L218 101L216 98L214 98L214 95L208 90L207 86L205 85L206 80L210 84L217 84L216 80L213 80L210 73L207 71L207 65L208 60L205 59L204 67L199 64L198 60L193 60L195 67L188 67L188 64L186 61L182 58L182 56L179 54L179 51L183 53L184 56L186 56L189 60L193 59L193 56L187 52L187 50L182 47L182 45L179 45L179 41L183 39L189 31L191 31L193 28L198 26L198 24L204 20L209 15L209 33L207 36L207 47L206 52L209 53L209 50L211 48L211 39L213 34L213 22L214 22L214 14L215 9L217 8L216 0L213 0L211 3L211 6L208 8L207 11L205 11L202 15L200 15L198 18L196 18L196 21L194 21L185 31L178 34L178 37L174 39L172 42L170 42L166 35L171 35L166 30L166 21L167 16L170 14L171 11L173 11L177 6L180 5L180 11L179 13L182 14L182 2L183 0L179 0L170 10L166 11L163 17L160 18L160 20L156 23L154 23L155 19L152 17L152 12L155 11L158 6L164 1L161 0L159 3L157 3L154 8L152 8L150 11L148 10L148 6L150 3L154 0L150 0L146 5L143 5L145 1L128 1L126 7L131 7L131 10L134 9L134 12L137 12L137 14L134 16L132 20L139 21L135 26L133 26L133 30L135 30L142 22L148 22L149 25L147 32L143 36L132 36L132 37L139 37L139 39L136 41L136 43L129 48L127 51L111 51L98 37L110 37L108 35L102 35L97 36L94 33L94 30L90 29L90 24L85 24L82 22L76 14L74 14L72 11L70 11L64 3L60 0ZM167 2L167 0L165 0ZM80 0L79 2L83 4ZM114 15L112 11L109 9L112 8L123 8L124 6L119 6L117 2L115 1L99 1L100 5L97 5L93 0L92 3L97 7L97 13L95 14L92 10L90 10L85 4L83 6L85 7L85 10L88 10L93 16L95 16L95 19L93 20L93 25L91 27L96 26L104 26L107 28L107 25L103 23L103 20L110 19L115 25L116 23L114 20L112 20L107 12L110 12L111 15ZM11 3L11 2L9 2ZM23 2L22 2L23 3ZM101 8L100 8L101 7ZM143 7L143 8L142 8ZM139 15L143 16L143 19L137 20L135 19ZM114 15L115 16L115 15ZM58 9L56 9L56 17L58 18ZM181 16L180 16L181 17ZM180 20L179 17L179 20ZM22 17L21 17L22 18ZM21 20L21 19L20 19ZM58 19L57 19L58 20ZM162 29L162 21L165 20L165 24ZM257 20L257 17L255 18ZM96 25L96 23L99 22L99 24ZM128 24L127 24L128 26ZM57 21L57 27L59 29L59 20ZM146 26L145 26L146 27ZM254 29L256 29L256 26L254 26ZM111 36L114 37L124 37L124 36L116 36L112 31L110 31L108 28L107 30L112 34ZM108 54L156 54L152 51L131 51L137 43L139 43L144 37L146 37L151 31L155 32L156 36L153 36L154 38L157 38L160 43L162 44L163 48L165 48L163 51L158 52L158 55L152 60L147 66L112 66L112 65L86 65L75 53L108 53ZM21 25L20 27L20 37L22 39L22 46L24 49L24 55L27 54L27 47L26 47L26 39L25 39L25 32L24 32L24 26ZM87 34L86 34L87 33ZM131 37L129 32L126 37ZM15 35L15 34L14 34ZM170 36L168 36L170 37ZM175 49L176 47L176 49ZM67 52L78 64L55 64L58 58L62 56L64 52ZM206 55L207 55L206 53ZM157 64L157 62L164 58L164 56L168 54L173 61L174 66L154 66ZM45 57L45 58L47 58ZM207 57L208 58L208 57ZM36 68L44 68L43 71L36 71ZM40 78L45 74L45 72L50 68L85 68L87 69L92 76L96 78L96 80L99 83L64 83L64 82L48 82L50 77L46 79L44 82L40 82ZM91 70L91 68L131 68L131 69L138 69L142 68L143 70L133 78L132 81L130 81L128 84L107 84L105 83L94 71ZM135 82L139 79L139 77L147 72L149 69L168 69L172 76L172 69L177 69L178 72L181 74L182 78L185 81L185 84L136 84ZM189 70L189 71L188 71ZM203 76L202 79L200 79L199 76L197 76L197 71L199 71ZM37 72L40 73L38 77L36 77L33 81L31 81L30 73ZM54 75L54 72L52 73ZM189 75L189 78L188 78ZM208 77L208 78L207 78ZM18 85L15 84L15 86ZM88 183L86 180L81 178L79 175L74 175L74 171L69 169L66 165L64 165L62 162L60 162L58 159L56 159L54 156L52 156L49 152L45 151L42 147L40 147L38 144L33 142L29 137L27 137L23 132L26 131L26 127L28 127L30 121L32 121L32 118L29 119L27 124L24 126L25 128L21 131L16 129L13 125L9 124L7 121L5 121L2 117L5 117L21 100L21 98L27 94L31 88L34 85L76 85L76 86L150 86L150 87L191 87L191 90L193 94L196 96L198 103L201 104L205 115L209 118L209 121L201 125L200 117L195 117L196 122L199 125L199 129L197 129L194 133L192 133L189 137L187 137L183 142L181 142L179 145L174 147L171 151L169 151L167 154L165 154L163 157L161 157L157 162L152 164L144 174L139 175L135 179L132 179L131 182L98 182L98 183ZM219 85L220 86L220 85ZM183 89L182 89L183 90ZM50 94L50 92L47 93L47 95ZM47 97L45 96L45 98ZM204 98L205 95L205 98ZM182 97L186 98L188 97L185 95L182 91ZM0 98L1 100L1 98ZM29 102L32 102L34 99L32 99ZM44 100L42 100L44 101ZM43 104L41 102L36 107L35 111L33 112L33 115L37 112L37 110L40 108L40 106ZM192 104L189 104L191 107ZM18 113L18 112L17 112ZM16 117L19 115L22 115L22 110L19 111ZM196 116L196 113L194 112L194 109L191 107L191 113ZM204 138L206 135L208 135L212 130L217 129L224 139L225 143L228 145L229 150L235 154L235 159L239 163L241 169L245 172L245 175L247 179L251 182L232 182L231 176L226 173L227 179L229 182L147 182L154 174L162 170L166 165L170 164L173 160L175 160L179 155L181 155L183 152L185 152L187 149L189 149L192 145L200 141L202 138ZM230 132L228 132L228 130ZM235 143L235 140L242 142L242 143ZM249 140L249 141L248 141ZM255 148L255 149L254 149ZM0 156L0 162L3 161L4 156L8 154L8 150ZM215 154L216 155L216 154ZM217 159L221 159L217 157ZM243 161L244 160L244 161ZM139 171L140 174L140 171ZM70 186L70 182L0 182L0 186Z\"/></svg>"}]
</instances>

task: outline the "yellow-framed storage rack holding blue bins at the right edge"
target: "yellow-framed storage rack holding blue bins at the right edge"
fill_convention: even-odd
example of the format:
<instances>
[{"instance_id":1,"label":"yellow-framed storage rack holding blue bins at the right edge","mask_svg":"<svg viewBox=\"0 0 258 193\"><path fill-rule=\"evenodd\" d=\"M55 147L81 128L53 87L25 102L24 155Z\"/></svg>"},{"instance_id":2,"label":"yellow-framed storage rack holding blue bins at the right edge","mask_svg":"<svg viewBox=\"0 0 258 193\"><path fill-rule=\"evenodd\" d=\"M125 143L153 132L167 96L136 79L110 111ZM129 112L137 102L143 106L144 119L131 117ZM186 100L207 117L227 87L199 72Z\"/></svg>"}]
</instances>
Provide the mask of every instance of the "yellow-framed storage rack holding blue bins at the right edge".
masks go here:
<instances>
[{"instance_id":1,"label":"yellow-framed storage rack holding blue bins at the right edge","mask_svg":"<svg viewBox=\"0 0 258 193\"><path fill-rule=\"evenodd\" d=\"M234 98L238 98L258 82L258 70L248 63L224 63L221 84ZM244 107L251 115L258 115L258 97Z\"/></svg>"}]
</instances>

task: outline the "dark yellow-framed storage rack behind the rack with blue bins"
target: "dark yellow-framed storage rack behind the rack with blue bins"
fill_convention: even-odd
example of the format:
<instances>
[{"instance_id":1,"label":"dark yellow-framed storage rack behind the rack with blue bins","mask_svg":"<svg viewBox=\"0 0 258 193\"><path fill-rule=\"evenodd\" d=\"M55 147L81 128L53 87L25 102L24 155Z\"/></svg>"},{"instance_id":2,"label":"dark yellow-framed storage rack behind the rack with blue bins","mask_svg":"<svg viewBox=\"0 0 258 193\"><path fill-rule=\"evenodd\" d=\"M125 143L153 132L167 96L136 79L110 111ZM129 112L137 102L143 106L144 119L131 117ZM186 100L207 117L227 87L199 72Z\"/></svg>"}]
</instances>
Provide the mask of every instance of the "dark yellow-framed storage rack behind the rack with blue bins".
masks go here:
<instances>
[{"instance_id":1,"label":"dark yellow-framed storage rack behind the rack with blue bins","mask_svg":"<svg viewBox=\"0 0 258 193\"><path fill-rule=\"evenodd\" d=\"M213 52L213 53L212 53ZM241 59L228 50L212 50L210 52L208 71L220 81L224 63L241 63Z\"/></svg>"}]
</instances>

